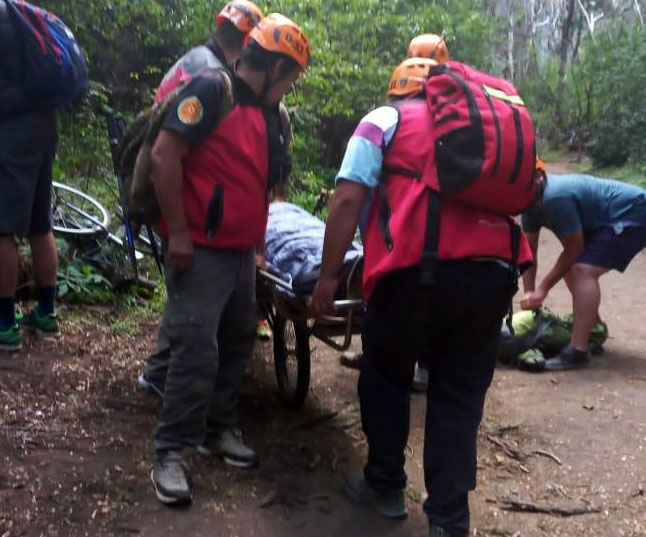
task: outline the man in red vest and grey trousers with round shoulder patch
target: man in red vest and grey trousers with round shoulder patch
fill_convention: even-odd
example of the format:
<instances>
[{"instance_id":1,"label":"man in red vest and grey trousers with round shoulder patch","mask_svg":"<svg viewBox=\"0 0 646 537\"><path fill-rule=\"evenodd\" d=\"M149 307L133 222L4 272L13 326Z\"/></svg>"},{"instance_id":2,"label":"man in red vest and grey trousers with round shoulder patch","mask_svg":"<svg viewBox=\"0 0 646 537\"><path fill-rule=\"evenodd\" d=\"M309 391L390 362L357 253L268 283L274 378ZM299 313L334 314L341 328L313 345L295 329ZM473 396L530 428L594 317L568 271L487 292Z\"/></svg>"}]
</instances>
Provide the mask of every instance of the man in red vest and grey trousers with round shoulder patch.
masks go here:
<instances>
[{"instance_id":1,"label":"man in red vest and grey trousers with round shoulder patch","mask_svg":"<svg viewBox=\"0 0 646 537\"><path fill-rule=\"evenodd\" d=\"M170 347L151 474L163 503L192 499L184 447L238 467L258 462L238 429L236 393L254 342L256 245L282 168L270 151L279 135L270 132L268 111L278 129L278 103L309 55L298 26L279 14L265 17L233 64L233 110L218 123L227 75L201 71L180 90L152 149Z\"/></svg>"}]
</instances>

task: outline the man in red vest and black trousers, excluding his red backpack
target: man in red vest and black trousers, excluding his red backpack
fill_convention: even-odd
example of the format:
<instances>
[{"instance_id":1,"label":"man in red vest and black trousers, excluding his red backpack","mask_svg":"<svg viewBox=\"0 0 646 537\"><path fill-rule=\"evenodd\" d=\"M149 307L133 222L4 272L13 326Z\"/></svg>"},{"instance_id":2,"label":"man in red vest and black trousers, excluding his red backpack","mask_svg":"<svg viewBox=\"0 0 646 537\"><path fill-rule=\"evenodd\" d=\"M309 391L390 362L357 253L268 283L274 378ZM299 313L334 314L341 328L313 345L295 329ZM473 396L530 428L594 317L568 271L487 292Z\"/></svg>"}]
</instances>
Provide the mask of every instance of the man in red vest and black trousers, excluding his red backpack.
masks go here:
<instances>
[{"instance_id":1,"label":"man in red vest and black trousers, excluding his red backpack","mask_svg":"<svg viewBox=\"0 0 646 537\"><path fill-rule=\"evenodd\" d=\"M424 169L433 144L424 88L434 65L411 58L399 66L389 105L365 116L350 139L310 306L315 314L333 309L337 272L359 224L367 301L359 398L369 451L363 474L349 476L345 491L384 516L406 516L411 383L427 346L424 510L431 537L466 537L476 436L501 322L517 290L517 267L531 262L531 252L511 219L449 197L436 219L427 218L437 208L414 171ZM433 220L438 225L429 229ZM422 256L428 236L436 237L436 259Z\"/></svg>"}]
</instances>

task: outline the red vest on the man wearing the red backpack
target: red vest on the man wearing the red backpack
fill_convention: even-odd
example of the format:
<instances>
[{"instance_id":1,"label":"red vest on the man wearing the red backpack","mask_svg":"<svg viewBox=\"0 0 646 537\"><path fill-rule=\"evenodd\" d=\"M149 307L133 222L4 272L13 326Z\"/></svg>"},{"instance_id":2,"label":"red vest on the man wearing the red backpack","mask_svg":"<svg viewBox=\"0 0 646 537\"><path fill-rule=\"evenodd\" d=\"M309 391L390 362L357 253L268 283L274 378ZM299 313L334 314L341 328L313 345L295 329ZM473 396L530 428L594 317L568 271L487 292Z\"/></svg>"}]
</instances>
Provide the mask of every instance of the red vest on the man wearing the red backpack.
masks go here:
<instances>
[{"instance_id":1,"label":"red vest on the man wearing the red backpack","mask_svg":"<svg viewBox=\"0 0 646 537\"><path fill-rule=\"evenodd\" d=\"M364 296L384 275L422 262L430 189L411 171L425 169L431 153L432 121L423 100L398 105L400 121L384 156L383 176L373 193L364 232ZM510 218L442 197L437 259L491 258L512 262ZM532 261L525 237L518 239L519 265Z\"/></svg>"}]
</instances>

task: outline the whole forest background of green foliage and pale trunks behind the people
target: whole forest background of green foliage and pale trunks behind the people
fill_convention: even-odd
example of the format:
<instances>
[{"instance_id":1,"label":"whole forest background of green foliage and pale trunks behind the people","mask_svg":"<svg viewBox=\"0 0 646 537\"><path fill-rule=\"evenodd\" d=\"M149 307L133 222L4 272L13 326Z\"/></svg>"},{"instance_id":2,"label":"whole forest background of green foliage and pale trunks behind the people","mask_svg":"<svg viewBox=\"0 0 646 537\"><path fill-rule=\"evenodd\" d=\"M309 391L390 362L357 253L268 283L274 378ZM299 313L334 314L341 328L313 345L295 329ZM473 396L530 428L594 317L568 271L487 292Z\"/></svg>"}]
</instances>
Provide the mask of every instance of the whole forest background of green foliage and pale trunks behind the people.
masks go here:
<instances>
[{"instance_id":1,"label":"whole forest background of green foliage and pale trunks behind the people","mask_svg":"<svg viewBox=\"0 0 646 537\"><path fill-rule=\"evenodd\" d=\"M512 80L541 154L573 150L592 166L646 175L643 0L261 0L312 42L307 76L286 99L295 141L291 198L308 208L330 187L356 122L384 101L408 41L442 34L453 59ZM91 98L61 114L57 177L114 181L97 102L126 118L164 72L202 43L224 0L42 0L75 32ZM613 172L610 171L609 174ZM615 168L615 175L616 168Z\"/></svg>"}]
</instances>

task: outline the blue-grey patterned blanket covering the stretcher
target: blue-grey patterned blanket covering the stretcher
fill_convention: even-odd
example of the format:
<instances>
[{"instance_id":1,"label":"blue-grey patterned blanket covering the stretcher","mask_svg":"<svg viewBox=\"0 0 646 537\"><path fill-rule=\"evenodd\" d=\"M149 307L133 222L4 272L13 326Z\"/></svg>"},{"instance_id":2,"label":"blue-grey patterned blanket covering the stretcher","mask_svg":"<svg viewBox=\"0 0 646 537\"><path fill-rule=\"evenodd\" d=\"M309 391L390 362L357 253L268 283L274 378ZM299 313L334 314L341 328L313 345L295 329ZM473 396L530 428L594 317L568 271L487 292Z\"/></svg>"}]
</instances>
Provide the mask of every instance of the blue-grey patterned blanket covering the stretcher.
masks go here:
<instances>
[{"instance_id":1,"label":"blue-grey patterned blanket covering the stretcher","mask_svg":"<svg viewBox=\"0 0 646 537\"><path fill-rule=\"evenodd\" d=\"M289 282L297 293L311 293L321 271L325 222L298 205L274 201L267 222L267 270ZM363 254L353 242L344 263Z\"/></svg>"}]
</instances>

